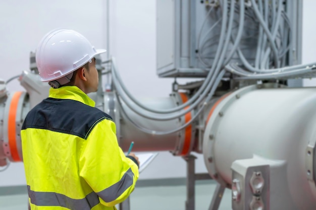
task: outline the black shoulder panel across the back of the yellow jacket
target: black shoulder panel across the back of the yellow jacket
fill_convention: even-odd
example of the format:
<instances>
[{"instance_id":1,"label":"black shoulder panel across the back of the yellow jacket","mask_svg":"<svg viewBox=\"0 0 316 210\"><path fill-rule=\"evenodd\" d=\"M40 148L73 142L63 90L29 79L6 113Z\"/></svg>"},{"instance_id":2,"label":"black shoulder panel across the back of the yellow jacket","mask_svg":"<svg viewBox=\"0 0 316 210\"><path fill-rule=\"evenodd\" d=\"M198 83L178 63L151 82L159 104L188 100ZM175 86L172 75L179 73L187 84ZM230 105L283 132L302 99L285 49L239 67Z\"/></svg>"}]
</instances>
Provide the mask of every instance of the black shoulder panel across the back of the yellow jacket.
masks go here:
<instances>
[{"instance_id":1,"label":"black shoulder panel across the back of the yellow jacket","mask_svg":"<svg viewBox=\"0 0 316 210\"><path fill-rule=\"evenodd\" d=\"M78 101L47 98L27 114L22 129L47 129L86 139L92 128L104 119L112 120L112 117Z\"/></svg>"}]
</instances>

